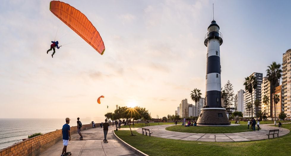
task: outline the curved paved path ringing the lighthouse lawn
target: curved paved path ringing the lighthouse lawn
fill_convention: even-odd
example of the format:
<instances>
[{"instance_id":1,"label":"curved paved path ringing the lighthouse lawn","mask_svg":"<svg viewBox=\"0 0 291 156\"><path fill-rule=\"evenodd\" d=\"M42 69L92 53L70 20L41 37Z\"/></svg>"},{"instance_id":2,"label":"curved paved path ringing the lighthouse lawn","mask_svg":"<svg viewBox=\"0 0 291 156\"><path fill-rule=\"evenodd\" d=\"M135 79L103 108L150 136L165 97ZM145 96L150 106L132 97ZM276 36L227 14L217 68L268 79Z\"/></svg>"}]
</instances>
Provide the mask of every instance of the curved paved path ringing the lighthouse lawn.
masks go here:
<instances>
[{"instance_id":1,"label":"curved paved path ringing the lighthouse lawn","mask_svg":"<svg viewBox=\"0 0 291 156\"><path fill-rule=\"evenodd\" d=\"M174 125L174 124L173 124ZM240 133L184 133L167 131L165 128L173 125L157 125L148 126L145 128L150 129L151 136L176 140L189 140L189 141L202 141L202 142L241 142L241 141L253 141L268 139L266 134L269 134L270 129L279 129L279 137L286 135L290 132L289 129L281 127L273 127L268 125L260 125L260 131L240 132ZM181 125L180 125L181 126ZM189 127L191 128L191 127ZM256 127L257 128L257 127ZM138 129L137 132L143 133L142 129ZM273 136L271 136L273 137Z\"/></svg>"}]
</instances>

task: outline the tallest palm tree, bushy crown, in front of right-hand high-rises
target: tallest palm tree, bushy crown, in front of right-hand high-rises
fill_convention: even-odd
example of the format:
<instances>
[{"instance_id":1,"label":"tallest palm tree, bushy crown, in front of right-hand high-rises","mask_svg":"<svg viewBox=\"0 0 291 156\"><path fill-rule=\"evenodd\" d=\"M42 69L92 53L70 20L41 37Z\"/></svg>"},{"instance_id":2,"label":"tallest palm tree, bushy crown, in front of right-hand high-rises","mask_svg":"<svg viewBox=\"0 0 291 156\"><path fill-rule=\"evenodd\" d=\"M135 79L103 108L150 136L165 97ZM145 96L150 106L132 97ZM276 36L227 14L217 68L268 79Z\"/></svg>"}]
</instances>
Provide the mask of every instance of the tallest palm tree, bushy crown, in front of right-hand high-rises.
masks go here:
<instances>
[{"instance_id":1,"label":"tallest palm tree, bushy crown, in front of right-hand high-rises","mask_svg":"<svg viewBox=\"0 0 291 156\"><path fill-rule=\"evenodd\" d=\"M272 62L267 69L267 77L268 81L273 85L273 98L275 99L275 85L278 83L278 80L282 77L282 69L281 64L277 64L276 62ZM274 100L274 107L276 108L275 100ZM276 125L276 113L275 113L275 121L274 125Z\"/></svg>"}]
</instances>

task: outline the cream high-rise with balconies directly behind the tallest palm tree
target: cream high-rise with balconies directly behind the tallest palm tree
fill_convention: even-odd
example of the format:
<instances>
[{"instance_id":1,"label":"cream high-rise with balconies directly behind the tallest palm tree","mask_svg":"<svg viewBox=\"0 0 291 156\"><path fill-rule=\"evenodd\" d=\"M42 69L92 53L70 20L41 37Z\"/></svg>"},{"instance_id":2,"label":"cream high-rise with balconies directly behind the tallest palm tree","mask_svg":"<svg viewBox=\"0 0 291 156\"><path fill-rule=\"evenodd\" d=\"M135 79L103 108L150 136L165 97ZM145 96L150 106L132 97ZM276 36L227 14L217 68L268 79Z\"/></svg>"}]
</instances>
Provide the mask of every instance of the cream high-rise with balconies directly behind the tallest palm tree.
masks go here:
<instances>
[{"instance_id":1,"label":"cream high-rise with balconies directly behind the tallest palm tree","mask_svg":"<svg viewBox=\"0 0 291 156\"><path fill-rule=\"evenodd\" d=\"M279 82L275 84L275 87L278 87L278 86L279 86ZM268 81L268 77L263 77L261 93L262 93L262 96L261 96L262 112L266 112L267 117L273 117L272 110L273 110L274 104L273 102L271 103L271 101L273 101L273 96L271 96L273 94L273 85L270 83L270 81ZM269 98L267 103L263 102L264 96L267 96Z\"/></svg>"}]
</instances>

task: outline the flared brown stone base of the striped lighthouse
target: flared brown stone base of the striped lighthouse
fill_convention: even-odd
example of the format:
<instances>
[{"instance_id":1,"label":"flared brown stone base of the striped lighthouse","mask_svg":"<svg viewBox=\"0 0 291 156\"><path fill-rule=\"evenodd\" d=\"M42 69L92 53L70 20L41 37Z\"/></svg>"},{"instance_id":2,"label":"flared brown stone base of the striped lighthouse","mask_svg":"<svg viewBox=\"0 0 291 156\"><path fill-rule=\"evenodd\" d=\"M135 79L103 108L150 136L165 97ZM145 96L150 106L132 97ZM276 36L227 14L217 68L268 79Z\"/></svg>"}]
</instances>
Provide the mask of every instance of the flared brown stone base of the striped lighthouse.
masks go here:
<instances>
[{"instance_id":1,"label":"flared brown stone base of the striped lighthouse","mask_svg":"<svg viewBox=\"0 0 291 156\"><path fill-rule=\"evenodd\" d=\"M225 108L202 108L197 124L200 125L230 125Z\"/></svg>"}]
</instances>

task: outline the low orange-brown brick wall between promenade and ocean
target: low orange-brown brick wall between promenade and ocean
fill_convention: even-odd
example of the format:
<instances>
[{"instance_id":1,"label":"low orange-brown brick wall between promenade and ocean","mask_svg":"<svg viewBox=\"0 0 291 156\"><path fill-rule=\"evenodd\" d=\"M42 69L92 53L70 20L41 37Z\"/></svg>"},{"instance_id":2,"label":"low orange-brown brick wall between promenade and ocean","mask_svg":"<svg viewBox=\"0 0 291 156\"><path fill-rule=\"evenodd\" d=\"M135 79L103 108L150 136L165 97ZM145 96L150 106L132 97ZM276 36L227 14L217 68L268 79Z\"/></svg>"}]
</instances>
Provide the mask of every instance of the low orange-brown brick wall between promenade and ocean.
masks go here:
<instances>
[{"instance_id":1,"label":"low orange-brown brick wall between promenade and ocean","mask_svg":"<svg viewBox=\"0 0 291 156\"><path fill-rule=\"evenodd\" d=\"M99 124L96 124L96 127L98 127ZM92 128L92 124L83 125L81 130L86 130L88 128ZM71 127L70 132L71 134L77 133L77 126ZM4 148L0 150L0 156L36 156L59 140L62 140L62 131L52 131Z\"/></svg>"}]
</instances>

